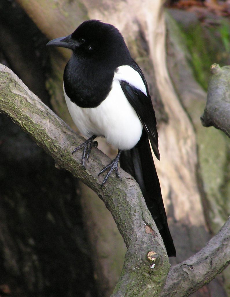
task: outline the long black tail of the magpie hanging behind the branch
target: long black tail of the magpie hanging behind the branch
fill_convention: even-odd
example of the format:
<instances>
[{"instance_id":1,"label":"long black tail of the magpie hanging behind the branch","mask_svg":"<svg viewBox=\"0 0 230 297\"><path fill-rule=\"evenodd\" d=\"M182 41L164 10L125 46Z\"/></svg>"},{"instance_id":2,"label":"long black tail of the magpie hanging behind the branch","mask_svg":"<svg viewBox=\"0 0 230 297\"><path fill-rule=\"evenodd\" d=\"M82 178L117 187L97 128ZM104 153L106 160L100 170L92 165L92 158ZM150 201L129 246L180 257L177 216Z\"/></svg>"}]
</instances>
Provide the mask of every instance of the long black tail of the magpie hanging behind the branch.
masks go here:
<instances>
[{"instance_id":1,"label":"long black tail of the magpie hanging behind the branch","mask_svg":"<svg viewBox=\"0 0 230 297\"><path fill-rule=\"evenodd\" d=\"M138 182L146 205L162 236L169 257L176 256L173 238L167 223L167 216L161 195L159 179L156 173L148 136L143 129L138 144L129 151L122 151L120 166Z\"/></svg>"}]
</instances>

